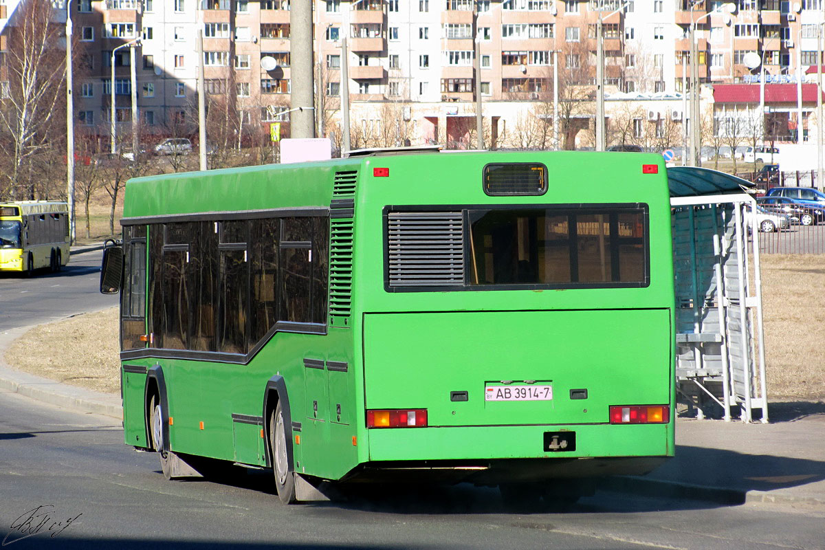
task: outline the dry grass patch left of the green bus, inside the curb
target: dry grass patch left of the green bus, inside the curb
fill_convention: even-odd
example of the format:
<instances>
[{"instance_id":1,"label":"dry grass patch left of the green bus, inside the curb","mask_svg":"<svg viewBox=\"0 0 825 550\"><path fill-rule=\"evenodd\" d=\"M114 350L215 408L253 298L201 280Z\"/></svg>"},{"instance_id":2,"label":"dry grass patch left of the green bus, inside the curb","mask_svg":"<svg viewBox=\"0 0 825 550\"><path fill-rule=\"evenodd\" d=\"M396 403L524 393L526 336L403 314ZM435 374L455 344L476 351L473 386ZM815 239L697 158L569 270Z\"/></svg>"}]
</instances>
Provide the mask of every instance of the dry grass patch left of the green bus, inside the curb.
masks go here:
<instances>
[{"instance_id":1,"label":"dry grass patch left of the green bus, inside the curb","mask_svg":"<svg viewBox=\"0 0 825 550\"><path fill-rule=\"evenodd\" d=\"M26 332L6 351L15 369L99 392L120 393L117 308Z\"/></svg>"}]
</instances>

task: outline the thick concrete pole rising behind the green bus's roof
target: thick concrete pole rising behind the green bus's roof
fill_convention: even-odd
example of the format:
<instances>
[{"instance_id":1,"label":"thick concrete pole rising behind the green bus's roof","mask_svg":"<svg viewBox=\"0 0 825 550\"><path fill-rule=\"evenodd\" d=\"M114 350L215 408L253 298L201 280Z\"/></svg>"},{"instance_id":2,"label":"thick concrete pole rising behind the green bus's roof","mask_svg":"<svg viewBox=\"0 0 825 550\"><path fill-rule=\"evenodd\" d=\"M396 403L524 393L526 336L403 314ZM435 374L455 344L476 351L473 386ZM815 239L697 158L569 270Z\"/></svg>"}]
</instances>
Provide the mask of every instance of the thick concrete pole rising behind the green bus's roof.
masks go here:
<instances>
[{"instance_id":1,"label":"thick concrete pole rising behind the green bus's roof","mask_svg":"<svg viewBox=\"0 0 825 550\"><path fill-rule=\"evenodd\" d=\"M293 0L290 6L290 60L292 138L315 137L314 55L312 36L312 0Z\"/></svg>"}]
</instances>

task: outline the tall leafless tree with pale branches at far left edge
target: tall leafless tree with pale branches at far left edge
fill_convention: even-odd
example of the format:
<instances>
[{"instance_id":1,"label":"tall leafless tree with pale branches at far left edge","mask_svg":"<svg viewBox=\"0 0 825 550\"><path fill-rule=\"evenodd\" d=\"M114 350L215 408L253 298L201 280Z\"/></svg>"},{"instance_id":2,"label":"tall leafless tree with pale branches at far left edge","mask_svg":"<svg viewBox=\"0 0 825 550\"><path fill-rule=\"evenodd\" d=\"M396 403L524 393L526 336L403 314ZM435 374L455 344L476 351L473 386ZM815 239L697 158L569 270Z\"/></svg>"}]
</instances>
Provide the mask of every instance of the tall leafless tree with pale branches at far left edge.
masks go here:
<instances>
[{"instance_id":1,"label":"tall leafless tree with pale branches at far left edge","mask_svg":"<svg viewBox=\"0 0 825 550\"><path fill-rule=\"evenodd\" d=\"M5 175L12 199L26 187L26 162L31 164L31 157L48 147L53 126L60 124L56 107L64 96L65 55L59 49L62 28L52 16L49 0L22 0L7 27L8 85L0 89L0 132L9 143Z\"/></svg>"}]
</instances>

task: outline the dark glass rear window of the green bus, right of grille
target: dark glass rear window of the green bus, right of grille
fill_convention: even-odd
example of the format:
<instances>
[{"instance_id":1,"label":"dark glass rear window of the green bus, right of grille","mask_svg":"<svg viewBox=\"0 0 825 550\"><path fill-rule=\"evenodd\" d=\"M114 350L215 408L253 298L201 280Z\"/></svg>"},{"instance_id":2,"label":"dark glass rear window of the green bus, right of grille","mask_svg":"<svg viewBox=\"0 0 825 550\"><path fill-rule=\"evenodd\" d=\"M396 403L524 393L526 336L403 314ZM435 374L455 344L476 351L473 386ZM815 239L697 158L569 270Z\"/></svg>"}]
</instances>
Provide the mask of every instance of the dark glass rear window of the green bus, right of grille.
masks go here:
<instances>
[{"instance_id":1,"label":"dark glass rear window of the green bus, right of grille","mask_svg":"<svg viewBox=\"0 0 825 550\"><path fill-rule=\"evenodd\" d=\"M648 283L643 209L479 209L469 226L471 286Z\"/></svg>"}]
</instances>

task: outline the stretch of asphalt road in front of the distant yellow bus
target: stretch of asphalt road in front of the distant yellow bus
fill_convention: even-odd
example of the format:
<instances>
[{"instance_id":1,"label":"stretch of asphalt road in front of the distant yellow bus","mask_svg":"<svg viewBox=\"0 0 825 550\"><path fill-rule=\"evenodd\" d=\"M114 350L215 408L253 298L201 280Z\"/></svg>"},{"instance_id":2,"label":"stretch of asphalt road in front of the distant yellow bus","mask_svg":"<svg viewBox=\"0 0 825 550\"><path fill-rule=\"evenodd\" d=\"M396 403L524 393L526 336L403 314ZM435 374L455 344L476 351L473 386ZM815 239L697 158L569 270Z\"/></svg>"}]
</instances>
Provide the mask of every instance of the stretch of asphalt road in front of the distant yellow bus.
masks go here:
<instances>
[{"instance_id":1,"label":"stretch of asphalt road in front of the distant yellow bus","mask_svg":"<svg viewBox=\"0 0 825 550\"><path fill-rule=\"evenodd\" d=\"M102 256L73 254L59 273L0 273L0 331L117 305L117 296L99 292Z\"/></svg>"}]
</instances>

